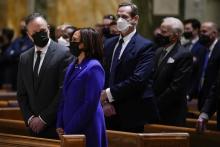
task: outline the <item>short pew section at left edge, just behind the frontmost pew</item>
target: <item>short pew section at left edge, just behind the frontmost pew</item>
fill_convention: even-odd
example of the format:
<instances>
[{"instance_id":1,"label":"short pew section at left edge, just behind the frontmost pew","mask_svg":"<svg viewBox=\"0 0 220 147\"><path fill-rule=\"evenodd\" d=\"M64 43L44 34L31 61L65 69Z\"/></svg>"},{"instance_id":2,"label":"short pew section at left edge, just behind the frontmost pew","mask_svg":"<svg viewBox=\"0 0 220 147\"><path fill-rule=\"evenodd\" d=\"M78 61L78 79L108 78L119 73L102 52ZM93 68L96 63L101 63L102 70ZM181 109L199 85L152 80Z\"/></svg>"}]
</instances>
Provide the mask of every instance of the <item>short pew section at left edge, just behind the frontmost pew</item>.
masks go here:
<instances>
[{"instance_id":1,"label":"short pew section at left edge, just behind the frontmost pew","mask_svg":"<svg viewBox=\"0 0 220 147\"><path fill-rule=\"evenodd\" d=\"M20 108L6 107L0 108L0 119L23 120Z\"/></svg>"}]
</instances>

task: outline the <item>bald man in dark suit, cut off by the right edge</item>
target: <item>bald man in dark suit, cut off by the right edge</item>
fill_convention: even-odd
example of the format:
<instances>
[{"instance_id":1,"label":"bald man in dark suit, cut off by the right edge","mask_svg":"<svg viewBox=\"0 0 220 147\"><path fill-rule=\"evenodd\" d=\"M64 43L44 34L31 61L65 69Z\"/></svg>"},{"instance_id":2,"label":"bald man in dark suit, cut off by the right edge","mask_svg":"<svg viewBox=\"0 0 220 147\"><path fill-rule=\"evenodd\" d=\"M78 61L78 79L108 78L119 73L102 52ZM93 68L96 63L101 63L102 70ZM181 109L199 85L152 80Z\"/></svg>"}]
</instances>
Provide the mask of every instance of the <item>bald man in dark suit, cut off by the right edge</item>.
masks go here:
<instances>
[{"instance_id":1,"label":"bald man in dark suit, cut off by the right edge","mask_svg":"<svg viewBox=\"0 0 220 147\"><path fill-rule=\"evenodd\" d=\"M220 130L220 42L217 28L213 22L204 22L201 27L200 41L210 50L210 53L205 77L201 79L204 83L199 97L201 114L197 125L200 132L204 131L205 123L216 111L217 129Z\"/></svg>"}]
</instances>

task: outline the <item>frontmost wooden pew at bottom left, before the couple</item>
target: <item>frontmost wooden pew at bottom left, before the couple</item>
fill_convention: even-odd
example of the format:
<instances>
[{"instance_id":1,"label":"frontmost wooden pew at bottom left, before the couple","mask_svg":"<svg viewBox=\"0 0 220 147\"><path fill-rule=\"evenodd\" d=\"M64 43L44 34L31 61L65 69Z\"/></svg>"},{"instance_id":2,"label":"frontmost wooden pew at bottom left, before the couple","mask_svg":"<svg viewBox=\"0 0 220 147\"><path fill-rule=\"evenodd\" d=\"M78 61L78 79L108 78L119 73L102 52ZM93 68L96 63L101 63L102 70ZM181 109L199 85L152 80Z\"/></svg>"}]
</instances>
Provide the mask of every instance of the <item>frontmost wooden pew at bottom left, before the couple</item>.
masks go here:
<instances>
[{"instance_id":1,"label":"frontmost wooden pew at bottom left, before the couple","mask_svg":"<svg viewBox=\"0 0 220 147\"><path fill-rule=\"evenodd\" d=\"M85 147L84 135L63 135L61 141L0 133L2 147Z\"/></svg>"}]
</instances>

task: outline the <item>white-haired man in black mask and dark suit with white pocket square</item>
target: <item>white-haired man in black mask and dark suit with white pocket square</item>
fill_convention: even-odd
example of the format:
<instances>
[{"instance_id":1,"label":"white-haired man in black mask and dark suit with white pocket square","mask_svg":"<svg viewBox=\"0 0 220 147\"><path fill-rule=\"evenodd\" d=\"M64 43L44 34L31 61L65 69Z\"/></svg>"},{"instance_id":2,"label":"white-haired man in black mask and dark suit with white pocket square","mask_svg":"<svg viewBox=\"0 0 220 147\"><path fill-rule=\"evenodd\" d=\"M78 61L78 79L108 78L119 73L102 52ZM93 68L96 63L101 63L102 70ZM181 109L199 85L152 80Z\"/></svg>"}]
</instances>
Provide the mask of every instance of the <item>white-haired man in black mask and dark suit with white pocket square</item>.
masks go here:
<instances>
[{"instance_id":1,"label":"white-haired man in black mask and dark suit with white pocket square","mask_svg":"<svg viewBox=\"0 0 220 147\"><path fill-rule=\"evenodd\" d=\"M186 92L193 58L180 44L182 22L165 18L160 26L160 45L155 55L154 92L161 123L183 125L186 118Z\"/></svg>"}]
</instances>

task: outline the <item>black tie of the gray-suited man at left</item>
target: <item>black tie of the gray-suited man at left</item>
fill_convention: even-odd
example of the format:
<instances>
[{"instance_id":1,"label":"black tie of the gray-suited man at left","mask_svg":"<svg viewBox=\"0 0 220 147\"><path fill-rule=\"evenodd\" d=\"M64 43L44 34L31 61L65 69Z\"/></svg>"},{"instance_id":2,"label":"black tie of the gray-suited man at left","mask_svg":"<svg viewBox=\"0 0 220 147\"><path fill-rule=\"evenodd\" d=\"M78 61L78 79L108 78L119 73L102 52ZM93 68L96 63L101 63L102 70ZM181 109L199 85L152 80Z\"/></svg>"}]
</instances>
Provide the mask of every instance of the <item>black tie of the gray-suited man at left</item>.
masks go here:
<instances>
[{"instance_id":1,"label":"black tie of the gray-suited man at left","mask_svg":"<svg viewBox=\"0 0 220 147\"><path fill-rule=\"evenodd\" d=\"M38 69L40 65L40 60L41 60L41 51L37 51L37 60L34 65L34 90L37 91L38 89Z\"/></svg>"}]
</instances>

